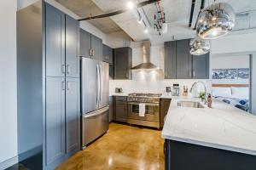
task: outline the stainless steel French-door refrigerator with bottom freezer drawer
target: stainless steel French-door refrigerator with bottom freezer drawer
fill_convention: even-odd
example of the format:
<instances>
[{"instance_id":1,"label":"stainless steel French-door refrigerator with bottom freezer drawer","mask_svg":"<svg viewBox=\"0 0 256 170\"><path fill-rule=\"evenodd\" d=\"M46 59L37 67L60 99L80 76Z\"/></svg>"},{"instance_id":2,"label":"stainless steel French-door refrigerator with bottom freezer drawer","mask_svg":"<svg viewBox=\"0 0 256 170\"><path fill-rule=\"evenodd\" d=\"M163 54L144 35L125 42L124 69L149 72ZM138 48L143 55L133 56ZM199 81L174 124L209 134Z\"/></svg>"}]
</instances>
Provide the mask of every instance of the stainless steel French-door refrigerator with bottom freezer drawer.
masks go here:
<instances>
[{"instance_id":1,"label":"stainless steel French-door refrigerator with bottom freezer drawer","mask_svg":"<svg viewBox=\"0 0 256 170\"><path fill-rule=\"evenodd\" d=\"M82 148L108 131L109 65L81 58Z\"/></svg>"}]
</instances>

